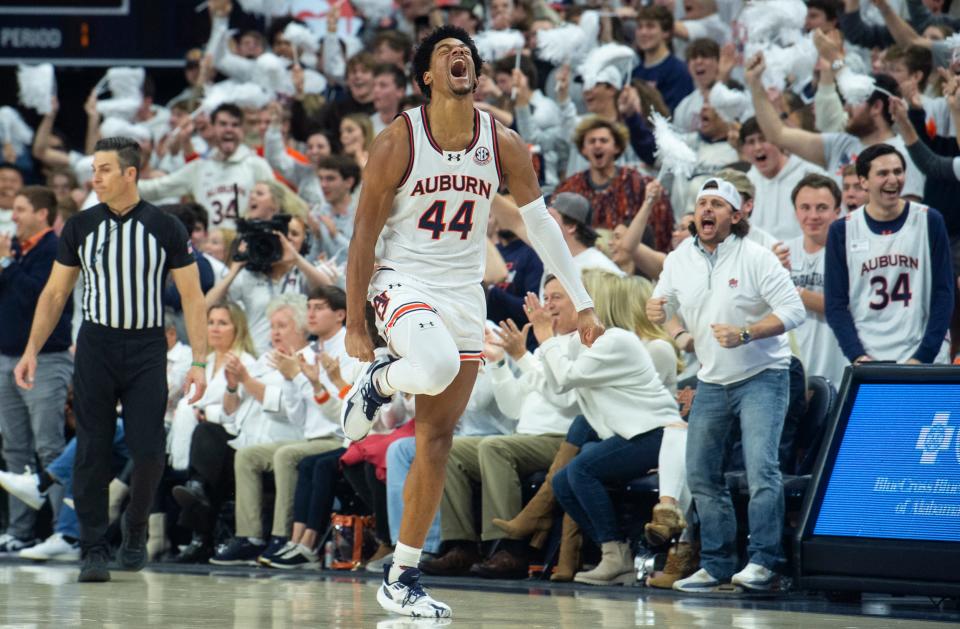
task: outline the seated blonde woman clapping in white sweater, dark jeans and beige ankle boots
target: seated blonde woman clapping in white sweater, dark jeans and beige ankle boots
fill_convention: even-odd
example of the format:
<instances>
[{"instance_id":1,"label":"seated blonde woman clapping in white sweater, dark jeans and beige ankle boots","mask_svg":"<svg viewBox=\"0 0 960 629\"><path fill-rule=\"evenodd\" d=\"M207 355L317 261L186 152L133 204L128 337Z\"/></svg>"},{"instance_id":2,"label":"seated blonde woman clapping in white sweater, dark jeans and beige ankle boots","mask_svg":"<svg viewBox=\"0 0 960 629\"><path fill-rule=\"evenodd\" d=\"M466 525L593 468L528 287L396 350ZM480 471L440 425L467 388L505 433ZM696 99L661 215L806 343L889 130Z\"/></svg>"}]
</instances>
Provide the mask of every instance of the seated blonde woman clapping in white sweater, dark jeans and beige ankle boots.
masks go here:
<instances>
[{"instance_id":1,"label":"seated blonde woman clapping in white sweater, dark jeans and beige ankle boots","mask_svg":"<svg viewBox=\"0 0 960 629\"><path fill-rule=\"evenodd\" d=\"M570 429L573 433L581 424L583 448L553 477L553 491L563 510L603 551L600 564L577 573L574 580L629 583L635 578L633 557L605 485L628 482L657 467L672 468L668 475L677 476L683 457L660 460L660 450L664 429L682 425L682 420L675 396L651 357L651 349L666 355L660 349L670 349L667 341L651 339L648 348L637 336L638 322L646 320L640 287L629 278L600 271L584 273L584 284L607 331L591 347L569 345L565 350L555 337L541 346L548 383L558 392L574 391L584 418ZM531 298L528 304L536 328L541 317L534 302ZM671 353L666 371L675 374L679 365L675 350ZM672 493L681 493L682 485Z\"/></svg>"}]
</instances>

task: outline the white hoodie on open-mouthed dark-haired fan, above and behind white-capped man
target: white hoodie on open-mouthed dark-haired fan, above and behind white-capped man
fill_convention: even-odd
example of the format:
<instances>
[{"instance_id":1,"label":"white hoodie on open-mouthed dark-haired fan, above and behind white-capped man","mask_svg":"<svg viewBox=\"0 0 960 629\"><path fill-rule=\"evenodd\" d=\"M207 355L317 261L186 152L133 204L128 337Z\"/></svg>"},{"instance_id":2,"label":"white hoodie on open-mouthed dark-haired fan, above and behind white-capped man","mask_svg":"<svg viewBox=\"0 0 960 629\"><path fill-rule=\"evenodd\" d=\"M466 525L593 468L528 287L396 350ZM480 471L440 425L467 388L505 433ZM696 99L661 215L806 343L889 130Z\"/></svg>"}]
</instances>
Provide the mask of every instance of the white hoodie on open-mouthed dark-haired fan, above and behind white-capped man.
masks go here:
<instances>
[{"instance_id":1,"label":"white hoodie on open-mouthed dark-haired fan, above and behind white-capped man","mask_svg":"<svg viewBox=\"0 0 960 629\"><path fill-rule=\"evenodd\" d=\"M811 164L796 155L787 158L787 163L773 179L767 179L760 174L756 166L750 168L747 171L747 178L754 187L750 226L769 232L781 242L802 236L803 231L794 214L790 196L797 183L810 173L826 174L816 164Z\"/></svg>"}]
</instances>

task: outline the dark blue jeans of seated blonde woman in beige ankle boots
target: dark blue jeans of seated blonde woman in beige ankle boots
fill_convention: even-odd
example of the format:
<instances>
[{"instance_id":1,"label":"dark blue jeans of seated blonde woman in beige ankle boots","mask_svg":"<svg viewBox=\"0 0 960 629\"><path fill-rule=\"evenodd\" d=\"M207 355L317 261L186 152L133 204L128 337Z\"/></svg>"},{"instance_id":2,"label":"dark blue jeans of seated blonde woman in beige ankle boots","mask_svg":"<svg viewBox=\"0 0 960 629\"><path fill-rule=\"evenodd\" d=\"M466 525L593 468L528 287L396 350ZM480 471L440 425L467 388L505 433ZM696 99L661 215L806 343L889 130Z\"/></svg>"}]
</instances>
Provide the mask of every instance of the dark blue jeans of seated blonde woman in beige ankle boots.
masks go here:
<instances>
[{"instance_id":1,"label":"dark blue jeans of seated blonde woman in beige ankle boots","mask_svg":"<svg viewBox=\"0 0 960 629\"><path fill-rule=\"evenodd\" d=\"M657 467L663 429L657 428L633 439L614 435L600 441L581 416L573 421L570 432L586 437L586 441L578 439L583 449L554 475L554 497L597 544L622 541L625 537L617 524L617 513L606 485L627 483Z\"/></svg>"}]
</instances>

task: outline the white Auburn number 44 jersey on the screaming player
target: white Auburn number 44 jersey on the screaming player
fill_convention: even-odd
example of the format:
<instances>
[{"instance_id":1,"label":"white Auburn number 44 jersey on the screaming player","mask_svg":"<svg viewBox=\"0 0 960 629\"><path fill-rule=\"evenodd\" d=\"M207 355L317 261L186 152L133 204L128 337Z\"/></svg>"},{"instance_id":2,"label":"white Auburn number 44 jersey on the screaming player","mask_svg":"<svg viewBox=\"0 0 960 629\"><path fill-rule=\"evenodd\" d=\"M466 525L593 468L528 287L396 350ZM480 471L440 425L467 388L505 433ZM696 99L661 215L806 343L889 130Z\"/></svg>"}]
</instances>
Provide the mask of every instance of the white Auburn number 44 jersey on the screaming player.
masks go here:
<instances>
[{"instance_id":1,"label":"white Auburn number 44 jersey on the screaming player","mask_svg":"<svg viewBox=\"0 0 960 629\"><path fill-rule=\"evenodd\" d=\"M473 139L462 151L440 148L426 106L401 116L410 134L410 161L377 241L376 267L433 286L479 285L490 203L501 179L493 116L474 110Z\"/></svg>"}]
</instances>

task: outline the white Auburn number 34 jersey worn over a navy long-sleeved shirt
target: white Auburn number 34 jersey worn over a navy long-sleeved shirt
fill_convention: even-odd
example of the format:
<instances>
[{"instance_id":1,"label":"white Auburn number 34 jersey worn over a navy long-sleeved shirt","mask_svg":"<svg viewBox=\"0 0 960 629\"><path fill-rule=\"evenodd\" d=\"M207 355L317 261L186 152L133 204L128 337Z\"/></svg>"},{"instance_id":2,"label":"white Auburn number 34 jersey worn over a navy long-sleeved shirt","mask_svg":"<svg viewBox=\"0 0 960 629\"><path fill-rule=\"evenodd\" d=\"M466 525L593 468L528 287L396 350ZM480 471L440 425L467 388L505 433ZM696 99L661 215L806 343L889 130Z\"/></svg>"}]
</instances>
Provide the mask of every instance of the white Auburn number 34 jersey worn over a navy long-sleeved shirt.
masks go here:
<instances>
[{"instance_id":1,"label":"white Auburn number 34 jersey worn over a navy long-sleeved shirt","mask_svg":"<svg viewBox=\"0 0 960 629\"><path fill-rule=\"evenodd\" d=\"M909 202L894 234L875 234L860 207L847 217L845 243L850 314L867 353L902 362L923 340L930 318L930 238L927 206ZM949 362L949 343L935 363Z\"/></svg>"}]
</instances>

